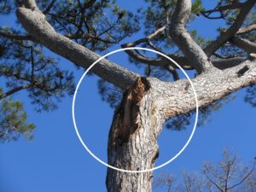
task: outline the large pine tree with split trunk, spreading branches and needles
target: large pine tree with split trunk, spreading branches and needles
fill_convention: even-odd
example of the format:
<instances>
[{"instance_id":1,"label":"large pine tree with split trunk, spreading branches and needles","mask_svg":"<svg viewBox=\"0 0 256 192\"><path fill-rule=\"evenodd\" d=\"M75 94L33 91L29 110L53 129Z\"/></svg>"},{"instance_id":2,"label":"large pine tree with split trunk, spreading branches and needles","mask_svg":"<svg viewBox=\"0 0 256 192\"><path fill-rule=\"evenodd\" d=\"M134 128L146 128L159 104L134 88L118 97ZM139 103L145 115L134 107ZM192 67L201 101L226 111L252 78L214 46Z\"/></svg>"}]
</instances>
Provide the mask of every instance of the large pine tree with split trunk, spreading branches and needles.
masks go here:
<instances>
[{"instance_id":1,"label":"large pine tree with split trunk, spreading branches and needles","mask_svg":"<svg viewBox=\"0 0 256 192\"><path fill-rule=\"evenodd\" d=\"M251 86L246 101L255 105L254 4L254 0L220 1L216 8L205 10L201 1L151 0L148 8L138 10L138 17L119 9L114 1L2 1L1 14L15 11L21 26L3 26L0 31L0 74L6 82L1 100L28 90L38 112L55 109L55 102L73 93L73 74L45 55L43 46L87 68L99 58L96 52L137 32L138 22L143 20L146 37L122 47L140 45L158 50L195 73L193 83L203 120L221 107L223 98L230 99L224 96L246 86ZM203 39L187 30L195 16L224 20L226 27L219 29L217 39ZM108 60L100 61L92 73L102 79L99 90L104 100L114 107L122 98L109 132L108 163L139 171L154 166L159 154L156 137L163 124L171 119L167 127L178 130L188 125L187 117L194 113L195 101L188 81L179 79L172 62L141 51L127 54L131 62L144 68L147 78ZM118 91L106 89L108 84ZM120 90L123 96L118 94ZM1 125L3 141L12 138L7 134L15 134L16 138L32 131L34 125L26 123L21 107L2 108L4 123L5 119L10 121L6 114L23 114L11 116L15 125ZM108 191L150 191L152 174L108 170Z\"/></svg>"}]
</instances>

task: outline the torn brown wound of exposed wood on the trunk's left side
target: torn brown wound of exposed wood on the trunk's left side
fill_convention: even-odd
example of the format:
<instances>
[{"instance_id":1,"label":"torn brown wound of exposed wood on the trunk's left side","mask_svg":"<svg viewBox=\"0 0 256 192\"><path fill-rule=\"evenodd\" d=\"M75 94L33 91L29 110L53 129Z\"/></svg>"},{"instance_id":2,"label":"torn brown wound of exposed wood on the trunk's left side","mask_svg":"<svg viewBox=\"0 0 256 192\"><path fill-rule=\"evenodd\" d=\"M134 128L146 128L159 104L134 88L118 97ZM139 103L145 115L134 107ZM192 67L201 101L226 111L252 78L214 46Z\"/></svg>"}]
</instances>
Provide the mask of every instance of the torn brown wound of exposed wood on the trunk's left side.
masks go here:
<instances>
[{"instance_id":1,"label":"torn brown wound of exposed wood on the trunk's left side","mask_svg":"<svg viewBox=\"0 0 256 192\"><path fill-rule=\"evenodd\" d=\"M117 145L127 143L131 134L137 130L140 125L139 103L149 89L148 80L139 77L123 93L122 101L113 116L110 130L109 146L112 149L115 149Z\"/></svg>"}]
</instances>

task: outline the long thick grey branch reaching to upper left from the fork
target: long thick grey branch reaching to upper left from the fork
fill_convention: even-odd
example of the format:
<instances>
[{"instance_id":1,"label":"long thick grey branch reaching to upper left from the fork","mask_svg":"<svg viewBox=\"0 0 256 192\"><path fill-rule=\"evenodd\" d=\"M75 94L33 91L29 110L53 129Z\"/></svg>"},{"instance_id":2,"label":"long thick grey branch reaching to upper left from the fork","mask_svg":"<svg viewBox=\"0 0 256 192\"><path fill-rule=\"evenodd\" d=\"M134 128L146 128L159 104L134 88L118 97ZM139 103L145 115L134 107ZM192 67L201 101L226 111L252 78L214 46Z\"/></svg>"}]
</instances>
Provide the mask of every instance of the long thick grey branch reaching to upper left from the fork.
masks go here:
<instances>
[{"instance_id":1,"label":"long thick grey branch reaching to upper left from the fork","mask_svg":"<svg viewBox=\"0 0 256 192\"><path fill-rule=\"evenodd\" d=\"M88 68L99 59L100 55L55 32L39 10L19 8L16 14L22 26L33 38L37 39L38 43L67 58L67 60L73 61L80 67ZM132 73L106 59L99 61L91 71L123 89L134 82L138 76L137 73Z\"/></svg>"}]
</instances>

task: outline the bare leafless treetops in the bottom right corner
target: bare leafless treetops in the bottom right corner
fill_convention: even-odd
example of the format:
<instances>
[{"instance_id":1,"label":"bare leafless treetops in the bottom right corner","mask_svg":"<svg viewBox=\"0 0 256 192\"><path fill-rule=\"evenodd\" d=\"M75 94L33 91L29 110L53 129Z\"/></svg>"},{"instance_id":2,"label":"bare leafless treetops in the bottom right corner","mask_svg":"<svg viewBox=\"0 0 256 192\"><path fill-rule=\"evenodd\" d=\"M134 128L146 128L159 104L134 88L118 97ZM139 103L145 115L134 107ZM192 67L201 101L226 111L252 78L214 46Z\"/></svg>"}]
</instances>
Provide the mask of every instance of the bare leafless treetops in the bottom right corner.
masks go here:
<instances>
[{"instance_id":1,"label":"bare leafless treetops in the bottom right corner","mask_svg":"<svg viewBox=\"0 0 256 192\"><path fill-rule=\"evenodd\" d=\"M160 174L154 180L155 188L168 192L184 191L250 191L256 190L255 159L252 165L243 165L238 154L224 150L223 160L206 162L201 172L182 172L182 176Z\"/></svg>"}]
</instances>

